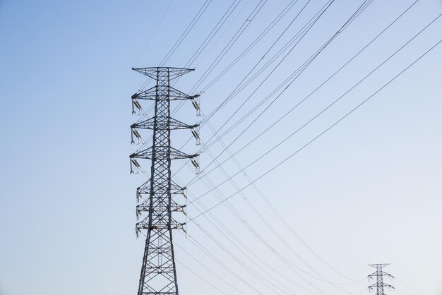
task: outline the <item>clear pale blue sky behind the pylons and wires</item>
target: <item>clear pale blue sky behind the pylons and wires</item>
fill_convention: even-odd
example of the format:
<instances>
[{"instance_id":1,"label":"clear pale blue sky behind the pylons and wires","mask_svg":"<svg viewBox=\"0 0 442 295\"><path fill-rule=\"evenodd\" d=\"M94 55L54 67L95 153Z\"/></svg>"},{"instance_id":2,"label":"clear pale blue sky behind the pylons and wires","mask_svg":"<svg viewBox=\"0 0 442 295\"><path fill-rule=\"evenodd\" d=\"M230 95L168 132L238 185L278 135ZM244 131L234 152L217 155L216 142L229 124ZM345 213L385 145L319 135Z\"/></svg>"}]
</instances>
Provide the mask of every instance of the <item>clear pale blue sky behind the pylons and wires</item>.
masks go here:
<instances>
[{"instance_id":1,"label":"clear pale blue sky behind the pylons and wires","mask_svg":"<svg viewBox=\"0 0 442 295\"><path fill-rule=\"evenodd\" d=\"M363 3L335 0L271 75L282 56L210 119L213 130L221 128L222 134L258 106L222 137L225 146L233 142L227 152L221 141L204 150L201 168L208 167L208 172L216 166L210 165L211 155L221 154L219 160L224 161L228 152L237 152L281 118L414 1L374 0L241 134L271 101L261 100ZM1 295L136 294L144 236L136 239L135 191L147 176L129 174L129 155L139 148L130 143L129 126L138 119L131 115L130 97L146 80L131 67L159 66L204 2L0 0ZM268 0L249 19L258 2L239 1L189 64L223 13L236 3L211 1L167 61L166 66L196 68L175 87L190 94L204 90L204 114L229 96L307 0L299 0L239 63L206 88L292 1ZM256 69L326 2L309 1ZM188 186L189 200L201 196L188 206L188 218L235 193L234 184L248 186L247 177L257 179L297 152L422 56L441 40L442 18L311 124L247 168L247 177L240 172L232 178L234 183L227 181L218 193L205 194L210 183L223 183L316 116L440 13L441 1L417 1L340 73L238 152L234 158L239 166L230 159L221 166L226 174L219 167L200 174ZM247 23L214 71L193 87ZM366 276L374 269L368 265L391 263L386 271L395 279L386 282L396 290L387 294L441 295L441 68L442 44L256 181L256 187L248 186L243 195L235 194L229 203L210 210L211 215L189 222L187 236L175 231L180 294L258 294L241 279L265 295L369 294L366 287L373 282ZM149 104L144 105L148 109ZM190 103L179 109L177 118L189 123L203 119L195 116ZM213 136L210 126L201 128L203 143ZM173 144L181 148L189 138L189 132L176 131ZM191 141L183 150L199 148ZM149 162L142 164L148 171ZM183 164L174 162L174 170ZM184 167L176 179L184 185L193 176L194 171ZM228 204L239 212L238 219L225 207Z\"/></svg>"}]
</instances>

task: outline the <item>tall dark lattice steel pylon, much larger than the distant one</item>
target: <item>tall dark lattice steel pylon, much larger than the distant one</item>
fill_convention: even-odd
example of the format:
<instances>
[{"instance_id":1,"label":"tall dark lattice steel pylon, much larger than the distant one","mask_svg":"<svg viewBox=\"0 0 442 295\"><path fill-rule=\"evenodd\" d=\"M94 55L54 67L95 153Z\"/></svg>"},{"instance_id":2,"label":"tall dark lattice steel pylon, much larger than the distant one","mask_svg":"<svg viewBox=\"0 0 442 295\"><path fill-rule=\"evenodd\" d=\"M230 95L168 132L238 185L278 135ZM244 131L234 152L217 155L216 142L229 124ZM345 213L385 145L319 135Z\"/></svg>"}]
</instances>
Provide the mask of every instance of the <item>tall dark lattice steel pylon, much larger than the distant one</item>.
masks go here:
<instances>
[{"instance_id":1,"label":"tall dark lattice steel pylon, much larger than the distant one","mask_svg":"<svg viewBox=\"0 0 442 295\"><path fill-rule=\"evenodd\" d=\"M136 224L137 236L140 231L147 231L141 267L138 295L178 295L177 269L174 260L172 229L184 229L185 223L172 217L172 212L184 212L185 207L177 198L184 195L185 188L180 188L172 181L172 159L191 159L198 167L198 155L187 155L171 147L170 131L186 129L192 131L198 140L198 124L187 125L172 119L170 102L173 100L191 100L199 109L198 95L186 95L170 85L171 80L193 71L188 68L133 68L134 71L153 78L156 85L148 90L132 95L133 114L141 114L141 119L131 126L132 143L142 144L141 148L130 155L131 173L143 171L137 159L150 159L150 179L137 188ZM139 100L155 102L154 115L147 117ZM152 146L143 141L139 129L153 130ZM184 203L184 202L183 202Z\"/></svg>"}]
</instances>

